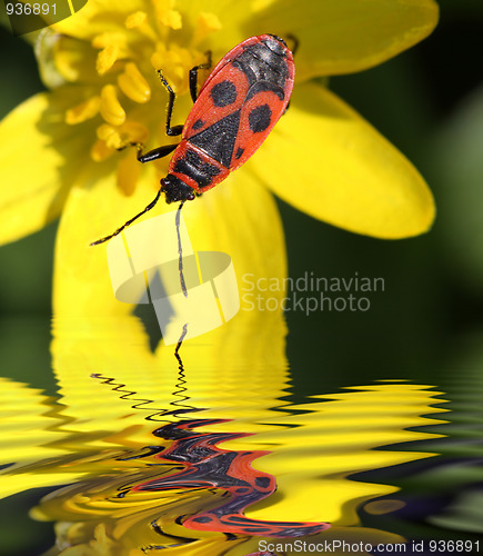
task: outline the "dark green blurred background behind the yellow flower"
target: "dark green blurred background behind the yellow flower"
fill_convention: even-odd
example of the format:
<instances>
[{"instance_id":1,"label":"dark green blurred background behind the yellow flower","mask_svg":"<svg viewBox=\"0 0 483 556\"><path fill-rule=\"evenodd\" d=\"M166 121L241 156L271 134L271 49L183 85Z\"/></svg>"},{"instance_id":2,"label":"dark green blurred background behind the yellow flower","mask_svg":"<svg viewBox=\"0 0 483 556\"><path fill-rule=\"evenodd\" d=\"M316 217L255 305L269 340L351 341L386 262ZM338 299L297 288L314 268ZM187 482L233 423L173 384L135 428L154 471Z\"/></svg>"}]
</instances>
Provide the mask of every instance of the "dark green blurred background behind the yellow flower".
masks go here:
<instances>
[{"instance_id":1,"label":"dark green blurred background behind the yellow flower","mask_svg":"<svg viewBox=\"0 0 483 556\"><path fill-rule=\"evenodd\" d=\"M400 148L437 205L430 234L400 241L356 236L280 202L290 275L383 277L366 312L288 314L294 389L362 377L431 377L477 349L483 307L483 2L444 0L435 32L412 50L330 87ZM1 115L41 90L31 47L1 30ZM29 150L26 142L26 163ZM323 171L323 168L321 168ZM0 248L3 373L53 391L49 317L56 225ZM310 240L319 255L308 257ZM469 363L469 365L471 365ZM41 369L46 369L42 373ZM320 388L318 388L320 390Z\"/></svg>"}]
</instances>

